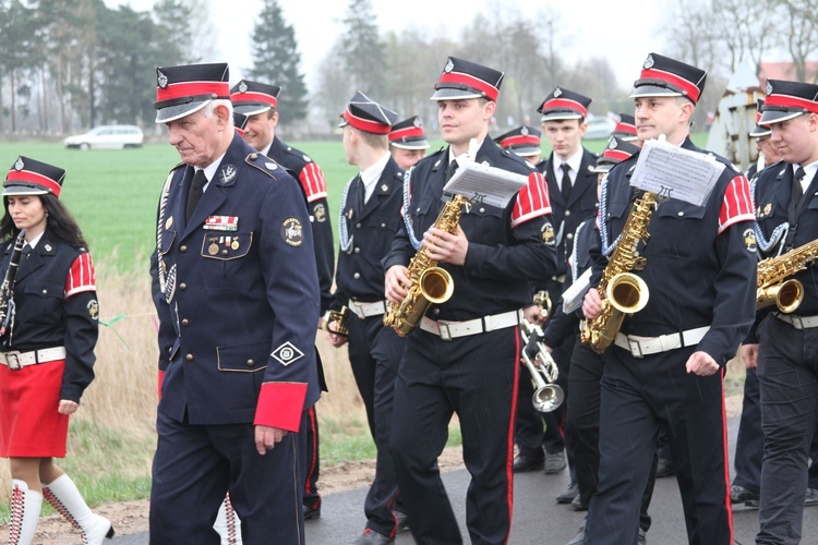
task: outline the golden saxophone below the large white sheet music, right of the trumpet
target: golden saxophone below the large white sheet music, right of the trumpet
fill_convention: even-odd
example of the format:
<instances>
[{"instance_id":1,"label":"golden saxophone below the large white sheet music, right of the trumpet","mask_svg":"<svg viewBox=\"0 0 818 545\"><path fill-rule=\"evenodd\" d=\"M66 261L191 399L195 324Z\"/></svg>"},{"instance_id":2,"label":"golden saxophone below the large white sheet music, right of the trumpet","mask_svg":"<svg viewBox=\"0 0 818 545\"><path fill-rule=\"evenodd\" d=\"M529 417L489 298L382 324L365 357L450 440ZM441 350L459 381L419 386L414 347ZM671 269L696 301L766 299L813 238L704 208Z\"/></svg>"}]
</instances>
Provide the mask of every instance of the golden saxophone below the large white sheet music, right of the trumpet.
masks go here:
<instances>
[{"instance_id":1,"label":"golden saxophone below the large white sheet music, right of the trumpet","mask_svg":"<svg viewBox=\"0 0 818 545\"><path fill-rule=\"evenodd\" d=\"M582 330L582 342L589 343L599 354L613 344L625 315L639 312L648 304L648 286L630 271L645 268L646 259L638 255L637 247L639 242L650 237L648 223L655 201L657 194L652 192L646 192L636 199L622 230L622 238L602 272L597 288L602 311L596 318L586 320Z\"/></svg>"}]
</instances>

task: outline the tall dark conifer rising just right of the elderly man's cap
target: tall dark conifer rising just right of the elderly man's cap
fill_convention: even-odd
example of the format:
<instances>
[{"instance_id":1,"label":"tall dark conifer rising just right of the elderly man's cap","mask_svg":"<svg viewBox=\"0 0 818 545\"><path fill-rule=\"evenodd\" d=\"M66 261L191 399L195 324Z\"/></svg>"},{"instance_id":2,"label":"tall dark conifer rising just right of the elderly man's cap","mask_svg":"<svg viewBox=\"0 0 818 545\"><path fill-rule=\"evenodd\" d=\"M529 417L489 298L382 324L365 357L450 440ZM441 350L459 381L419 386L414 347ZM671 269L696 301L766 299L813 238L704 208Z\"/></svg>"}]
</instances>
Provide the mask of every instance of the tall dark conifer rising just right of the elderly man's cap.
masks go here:
<instances>
[{"instance_id":1,"label":"tall dark conifer rising just right of the elderly man's cap","mask_svg":"<svg viewBox=\"0 0 818 545\"><path fill-rule=\"evenodd\" d=\"M282 124L306 117L306 85L299 72L296 32L287 24L278 0L264 0L258 22L253 28L253 69L249 78L278 85L278 119Z\"/></svg>"}]
</instances>

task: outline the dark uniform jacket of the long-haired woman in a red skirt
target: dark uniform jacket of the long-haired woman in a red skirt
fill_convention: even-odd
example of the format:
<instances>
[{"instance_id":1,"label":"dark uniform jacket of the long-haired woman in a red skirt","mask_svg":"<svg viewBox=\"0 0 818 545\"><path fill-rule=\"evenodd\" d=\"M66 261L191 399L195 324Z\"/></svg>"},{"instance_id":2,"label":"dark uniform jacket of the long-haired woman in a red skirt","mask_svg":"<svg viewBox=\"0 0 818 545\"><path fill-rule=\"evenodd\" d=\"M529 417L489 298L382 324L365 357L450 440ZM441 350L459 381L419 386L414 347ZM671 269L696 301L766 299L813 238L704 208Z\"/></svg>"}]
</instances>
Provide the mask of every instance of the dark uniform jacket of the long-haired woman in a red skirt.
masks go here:
<instances>
[{"instance_id":1,"label":"dark uniform jacket of the long-haired woman in a red skirt","mask_svg":"<svg viewBox=\"0 0 818 545\"><path fill-rule=\"evenodd\" d=\"M9 269L14 240L4 244L0 270ZM94 347L99 327L96 279L85 249L49 237L48 230L28 258L21 258L14 283L14 327L3 350L28 352L65 347L60 399L76 403L94 379Z\"/></svg>"}]
</instances>

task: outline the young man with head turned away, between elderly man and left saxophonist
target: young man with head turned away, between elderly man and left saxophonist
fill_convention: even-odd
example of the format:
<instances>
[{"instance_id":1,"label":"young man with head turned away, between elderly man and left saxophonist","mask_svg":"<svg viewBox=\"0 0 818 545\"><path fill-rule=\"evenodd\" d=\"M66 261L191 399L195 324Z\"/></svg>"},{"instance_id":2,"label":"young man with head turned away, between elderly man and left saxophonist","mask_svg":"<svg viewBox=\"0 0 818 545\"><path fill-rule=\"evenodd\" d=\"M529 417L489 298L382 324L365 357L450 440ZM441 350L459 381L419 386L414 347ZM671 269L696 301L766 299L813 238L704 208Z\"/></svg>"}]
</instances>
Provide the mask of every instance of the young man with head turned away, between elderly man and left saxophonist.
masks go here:
<instances>
[{"instance_id":1,"label":"young man with head turned away, between elderly man and left saxophonist","mask_svg":"<svg viewBox=\"0 0 818 545\"><path fill-rule=\"evenodd\" d=\"M327 318L327 337L335 347L349 341L349 363L377 447L375 479L363 506L366 528L354 543L392 543L406 524L406 514L393 511L398 489L389 458L393 389L404 339L383 326L381 259L400 227L404 170L389 155L387 137L397 113L358 92L341 118L344 152L360 173L344 190L337 289L329 305L335 312L347 306L348 336L336 335L339 324Z\"/></svg>"}]
</instances>

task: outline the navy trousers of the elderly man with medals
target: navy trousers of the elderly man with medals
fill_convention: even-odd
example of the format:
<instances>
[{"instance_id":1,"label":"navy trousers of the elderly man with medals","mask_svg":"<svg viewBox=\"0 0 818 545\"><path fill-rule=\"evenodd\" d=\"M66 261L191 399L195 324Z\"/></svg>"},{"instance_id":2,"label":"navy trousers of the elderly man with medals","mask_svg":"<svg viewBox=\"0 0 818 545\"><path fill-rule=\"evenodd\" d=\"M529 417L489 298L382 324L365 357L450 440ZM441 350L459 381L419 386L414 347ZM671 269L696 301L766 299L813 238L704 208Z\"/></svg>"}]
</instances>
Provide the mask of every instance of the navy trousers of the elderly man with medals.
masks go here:
<instances>
[{"instance_id":1,"label":"navy trousers of the elderly man with medals","mask_svg":"<svg viewBox=\"0 0 818 545\"><path fill-rule=\"evenodd\" d=\"M213 521L225 491L245 545L304 543L297 452L303 434L287 434L261 456L252 424L191 425L159 412L156 431L152 545L218 545Z\"/></svg>"}]
</instances>

